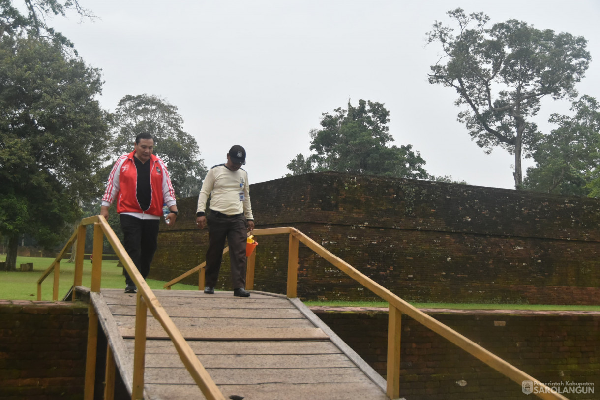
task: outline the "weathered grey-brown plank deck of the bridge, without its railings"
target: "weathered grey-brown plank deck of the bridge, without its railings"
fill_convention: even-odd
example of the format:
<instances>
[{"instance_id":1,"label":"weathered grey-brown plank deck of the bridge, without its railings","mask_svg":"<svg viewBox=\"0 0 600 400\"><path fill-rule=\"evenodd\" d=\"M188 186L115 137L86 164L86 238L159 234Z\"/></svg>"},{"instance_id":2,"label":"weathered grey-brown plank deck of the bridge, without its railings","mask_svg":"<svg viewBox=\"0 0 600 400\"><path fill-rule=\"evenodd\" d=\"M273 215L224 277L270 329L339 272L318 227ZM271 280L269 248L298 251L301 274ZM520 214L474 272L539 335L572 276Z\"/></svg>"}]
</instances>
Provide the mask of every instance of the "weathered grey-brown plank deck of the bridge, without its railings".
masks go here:
<instances>
[{"instance_id":1,"label":"weathered grey-brown plank deck of the bridge, without its railings","mask_svg":"<svg viewBox=\"0 0 600 400\"><path fill-rule=\"evenodd\" d=\"M225 398L389 399L385 380L298 299L154 293ZM121 376L131 381L136 295L103 289L92 302ZM146 336L145 399L204 399L150 314Z\"/></svg>"}]
</instances>

